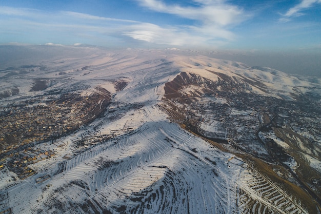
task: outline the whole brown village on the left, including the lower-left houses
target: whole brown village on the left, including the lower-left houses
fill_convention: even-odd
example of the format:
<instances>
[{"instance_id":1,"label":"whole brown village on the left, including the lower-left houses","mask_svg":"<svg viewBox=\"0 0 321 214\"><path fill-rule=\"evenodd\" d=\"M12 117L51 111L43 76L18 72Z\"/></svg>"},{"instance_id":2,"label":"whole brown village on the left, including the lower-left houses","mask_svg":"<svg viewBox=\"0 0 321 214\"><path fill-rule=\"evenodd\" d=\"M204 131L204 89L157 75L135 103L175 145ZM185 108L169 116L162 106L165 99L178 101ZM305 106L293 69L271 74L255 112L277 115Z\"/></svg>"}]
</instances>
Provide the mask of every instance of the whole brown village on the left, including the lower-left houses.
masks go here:
<instances>
[{"instance_id":1,"label":"whole brown village on the left, including the lower-left houses","mask_svg":"<svg viewBox=\"0 0 321 214\"><path fill-rule=\"evenodd\" d=\"M44 95L0 106L0 170L7 168L16 174L13 179L21 180L35 174L28 165L55 155L52 150L35 149L35 146L43 142L64 146L64 142L57 141L59 137L75 131L105 110L92 105L102 97L94 94L89 99L78 93ZM109 101L108 97L105 99L103 107Z\"/></svg>"}]
</instances>

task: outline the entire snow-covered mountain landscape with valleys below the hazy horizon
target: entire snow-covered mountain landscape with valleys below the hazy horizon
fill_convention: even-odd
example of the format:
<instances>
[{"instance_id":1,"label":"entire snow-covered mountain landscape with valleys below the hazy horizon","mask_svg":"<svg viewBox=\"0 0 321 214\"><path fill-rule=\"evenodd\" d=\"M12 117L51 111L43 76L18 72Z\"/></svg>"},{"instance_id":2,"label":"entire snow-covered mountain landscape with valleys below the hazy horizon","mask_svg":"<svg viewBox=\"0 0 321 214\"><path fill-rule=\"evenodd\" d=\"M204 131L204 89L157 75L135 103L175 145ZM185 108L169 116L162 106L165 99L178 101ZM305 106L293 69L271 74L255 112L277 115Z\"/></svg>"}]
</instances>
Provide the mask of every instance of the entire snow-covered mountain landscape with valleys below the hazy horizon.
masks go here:
<instances>
[{"instance_id":1,"label":"entire snow-covered mountain landscape with valleys below the hazy horizon","mask_svg":"<svg viewBox=\"0 0 321 214\"><path fill-rule=\"evenodd\" d=\"M0 212L320 212L320 79L183 50L29 48L46 54L0 70Z\"/></svg>"}]
</instances>

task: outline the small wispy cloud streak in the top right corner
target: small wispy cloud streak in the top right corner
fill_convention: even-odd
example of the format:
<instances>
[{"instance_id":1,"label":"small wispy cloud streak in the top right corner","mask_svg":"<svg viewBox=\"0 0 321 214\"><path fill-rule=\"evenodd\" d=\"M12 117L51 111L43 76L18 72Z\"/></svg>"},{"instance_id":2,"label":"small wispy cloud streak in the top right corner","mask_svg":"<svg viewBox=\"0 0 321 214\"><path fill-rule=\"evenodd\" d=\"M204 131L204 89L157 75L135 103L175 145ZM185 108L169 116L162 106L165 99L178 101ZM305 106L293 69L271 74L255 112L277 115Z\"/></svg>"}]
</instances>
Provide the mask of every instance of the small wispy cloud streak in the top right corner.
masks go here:
<instances>
[{"instance_id":1,"label":"small wispy cloud streak in the top right corner","mask_svg":"<svg viewBox=\"0 0 321 214\"><path fill-rule=\"evenodd\" d=\"M283 17L279 19L280 22L291 21L291 17L304 15L303 10L313 7L315 4L321 4L321 0L302 0L299 4L290 8Z\"/></svg>"}]
</instances>

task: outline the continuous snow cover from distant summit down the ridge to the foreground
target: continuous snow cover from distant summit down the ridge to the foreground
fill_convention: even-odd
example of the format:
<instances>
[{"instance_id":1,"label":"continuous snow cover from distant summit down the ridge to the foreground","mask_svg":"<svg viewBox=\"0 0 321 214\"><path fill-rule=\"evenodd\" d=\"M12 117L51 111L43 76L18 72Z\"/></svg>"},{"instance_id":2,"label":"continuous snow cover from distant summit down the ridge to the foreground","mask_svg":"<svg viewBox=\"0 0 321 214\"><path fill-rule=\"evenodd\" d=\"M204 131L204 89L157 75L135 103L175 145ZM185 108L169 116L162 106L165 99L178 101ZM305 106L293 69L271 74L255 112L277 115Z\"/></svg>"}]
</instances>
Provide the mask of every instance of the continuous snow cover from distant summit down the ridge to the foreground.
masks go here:
<instances>
[{"instance_id":1,"label":"continuous snow cover from distant summit down the ridge to the foreground","mask_svg":"<svg viewBox=\"0 0 321 214\"><path fill-rule=\"evenodd\" d=\"M247 164L229 162L231 153L171 123L165 113L155 108L165 93L164 84L182 70L214 81L217 76L207 70L228 75L246 73L268 86L275 83L271 87L274 90L288 91L288 86L278 86L279 82L293 84L286 74L272 75L243 64L235 67L231 62L205 56L191 59L166 51L83 51L88 51L88 56L81 60L62 57L39 62L46 71L28 74L30 81L11 79L2 84L19 86L20 94L8 98L8 102L49 90L30 92L31 79L39 75L54 82L50 89L68 91L74 84L82 90L82 96L88 96L95 86L114 93L104 117L59 139L66 144L64 147L50 142L38 145L54 149L56 155L31 165L37 174L22 181L1 181L0 191L7 193L4 203L13 213L242 213L251 200L272 207L276 213L286 213L279 208L282 204L275 202L280 198L294 207L290 213L307 212L262 174L251 171ZM88 69L82 70L84 66ZM111 84L115 79L128 85L116 92ZM310 83L297 80L295 84ZM265 93L259 88L252 90ZM106 136L110 139L91 144ZM85 145L76 147L80 141ZM36 183L37 178L47 175L49 179ZM254 190L256 184L280 197L262 199L268 188Z\"/></svg>"}]
</instances>

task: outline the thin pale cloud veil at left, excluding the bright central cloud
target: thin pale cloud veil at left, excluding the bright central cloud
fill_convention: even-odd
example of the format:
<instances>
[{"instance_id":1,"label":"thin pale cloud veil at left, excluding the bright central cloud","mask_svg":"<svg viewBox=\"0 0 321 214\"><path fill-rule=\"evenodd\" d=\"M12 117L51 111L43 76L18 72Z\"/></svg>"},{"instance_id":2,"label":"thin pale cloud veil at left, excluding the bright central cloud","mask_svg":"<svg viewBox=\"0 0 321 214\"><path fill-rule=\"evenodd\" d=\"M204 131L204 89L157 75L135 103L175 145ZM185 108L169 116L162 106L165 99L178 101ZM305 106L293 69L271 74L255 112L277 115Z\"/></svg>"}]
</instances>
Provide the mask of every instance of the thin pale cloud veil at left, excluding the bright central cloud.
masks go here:
<instances>
[{"instance_id":1,"label":"thin pale cloud veil at left, excluding the bright central cloud","mask_svg":"<svg viewBox=\"0 0 321 214\"><path fill-rule=\"evenodd\" d=\"M29 43L89 43L106 45L138 24L131 20L94 16L71 11L42 11L0 6L2 41ZM5 37L6 35L7 38ZM14 35L14 36L12 36Z\"/></svg>"}]
</instances>

